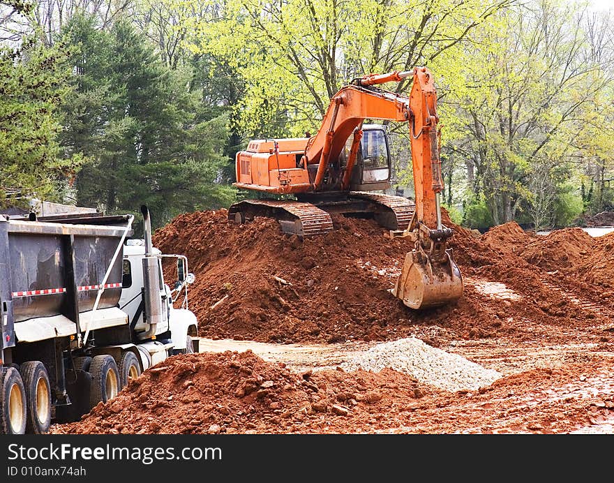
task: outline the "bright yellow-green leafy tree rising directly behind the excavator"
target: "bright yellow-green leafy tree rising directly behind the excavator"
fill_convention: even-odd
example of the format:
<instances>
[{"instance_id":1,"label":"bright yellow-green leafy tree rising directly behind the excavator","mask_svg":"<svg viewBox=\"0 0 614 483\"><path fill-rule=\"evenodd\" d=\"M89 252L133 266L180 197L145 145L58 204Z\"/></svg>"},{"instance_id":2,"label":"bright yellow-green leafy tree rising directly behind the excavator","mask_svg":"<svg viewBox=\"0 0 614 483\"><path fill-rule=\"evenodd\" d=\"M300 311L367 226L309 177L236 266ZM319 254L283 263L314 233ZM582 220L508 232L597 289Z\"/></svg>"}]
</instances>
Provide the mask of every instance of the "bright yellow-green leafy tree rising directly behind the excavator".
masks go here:
<instances>
[{"instance_id":1,"label":"bright yellow-green leafy tree rising directly behind the excavator","mask_svg":"<svg viewBox=\"0 0 614 483\"><path fill-rule=\"evenodd\" d=\"M193 50L226 61L246 81L235 109L248 135L304 135L352 77L429 64L509 3L228 0L217 19L186 24Z\"/></svg>"}]
</instances>

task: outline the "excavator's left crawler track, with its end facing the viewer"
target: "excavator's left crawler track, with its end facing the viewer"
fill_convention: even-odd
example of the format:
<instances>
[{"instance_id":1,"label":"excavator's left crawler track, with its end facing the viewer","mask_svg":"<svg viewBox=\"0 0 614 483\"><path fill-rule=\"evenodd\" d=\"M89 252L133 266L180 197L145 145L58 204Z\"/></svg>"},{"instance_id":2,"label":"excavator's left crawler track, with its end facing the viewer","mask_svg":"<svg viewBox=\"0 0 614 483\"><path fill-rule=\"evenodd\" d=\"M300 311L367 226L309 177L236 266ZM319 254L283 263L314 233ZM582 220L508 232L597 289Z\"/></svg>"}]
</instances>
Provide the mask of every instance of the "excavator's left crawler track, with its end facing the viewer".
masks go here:
<instances>
[{"instance_id":1,"label":"excavator's left crawler track, with its end facing the viewer","mask_svg":"<svg viewBox=\"0 0 614 483\"><path fill-rule=\"evenodd\" d=\"M245 223L255 216L275 218L285 233L299 237L324 235L333 230L330 214L311 203L292 200L244 200L228 209L228 219Z\"/></svg>"}]
</instances>

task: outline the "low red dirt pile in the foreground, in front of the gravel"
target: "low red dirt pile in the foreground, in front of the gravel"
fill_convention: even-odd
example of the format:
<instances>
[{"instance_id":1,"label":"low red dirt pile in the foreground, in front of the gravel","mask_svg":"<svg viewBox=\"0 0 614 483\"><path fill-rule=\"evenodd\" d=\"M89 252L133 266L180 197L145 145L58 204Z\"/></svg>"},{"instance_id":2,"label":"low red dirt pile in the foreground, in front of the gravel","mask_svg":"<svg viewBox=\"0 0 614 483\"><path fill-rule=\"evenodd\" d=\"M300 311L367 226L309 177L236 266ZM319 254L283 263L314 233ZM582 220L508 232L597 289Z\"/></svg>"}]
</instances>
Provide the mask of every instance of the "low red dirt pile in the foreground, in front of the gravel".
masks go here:
<instances>
[{"instance_id":1,"label":"low red dirt pile in the foreground, in front of the gravel","mask_svg":"<svg viewBox=\"0 0 614 483\"><path fill-rule=\"evenodd\" d=\"M376 430L384 409L437 390L384 369L291 373L250 351L202 352L145 371L108 403L54 433L306 433ZM382 426L384 424L384 426Z\"/></svg>"}]
</instances>

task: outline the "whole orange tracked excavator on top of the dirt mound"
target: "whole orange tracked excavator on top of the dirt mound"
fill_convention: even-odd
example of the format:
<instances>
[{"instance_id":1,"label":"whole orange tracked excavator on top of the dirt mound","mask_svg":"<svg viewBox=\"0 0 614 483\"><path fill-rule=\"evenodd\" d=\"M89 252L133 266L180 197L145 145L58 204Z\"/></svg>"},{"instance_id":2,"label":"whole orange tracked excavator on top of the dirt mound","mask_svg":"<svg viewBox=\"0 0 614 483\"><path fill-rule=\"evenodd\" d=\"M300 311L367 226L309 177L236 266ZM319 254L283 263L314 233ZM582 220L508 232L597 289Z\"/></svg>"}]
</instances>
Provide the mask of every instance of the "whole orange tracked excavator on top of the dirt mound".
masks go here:
<instances>
[{"instance_id":1,"label":"whole orange tracked excavator on top of the dirt mound","mask_svg":"<svg viewBox=\"0 0 614 483\"><path fill-rule=\"evenodd\" d=\"M410 76L409 97L377 87ZM381 193L391 186L387 126L365 124L377 119L407 122L415 203ZM234 203L228 218L275 218L299 237L333 230L331 214L374 218L414 241L392 295L412 309L453 302L463 294L463 279L447 248L452 230L441 219L438 120L437 91L426 67L354 79L333 96L314 136L253 140L237 153L234 186L264 196Z\"/></svg>"}]
</instances>

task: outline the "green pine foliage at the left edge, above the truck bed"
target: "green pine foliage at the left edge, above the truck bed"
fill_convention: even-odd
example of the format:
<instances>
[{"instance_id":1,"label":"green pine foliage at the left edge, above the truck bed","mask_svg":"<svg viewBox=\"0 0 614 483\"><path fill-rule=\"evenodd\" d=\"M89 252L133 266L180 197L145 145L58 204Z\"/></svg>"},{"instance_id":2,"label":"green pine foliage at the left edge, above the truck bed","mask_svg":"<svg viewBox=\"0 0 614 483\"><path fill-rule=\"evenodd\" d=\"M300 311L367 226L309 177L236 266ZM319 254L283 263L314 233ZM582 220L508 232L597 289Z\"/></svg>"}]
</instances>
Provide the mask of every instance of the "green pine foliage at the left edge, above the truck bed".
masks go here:
<instances>
[{"instance_id":1,"label":"green pine foliage at the left edge, above the truck bed","mask_svg":"<svg viewBox=\"0 0 614 483\"><path fill-rule=\"evenodd\" d=\"M79 168L57 141L57 105L69 94L63 61L34 38L0 49L0 204L10 193L59 201Z\"/></svg>"}]
</instances>

